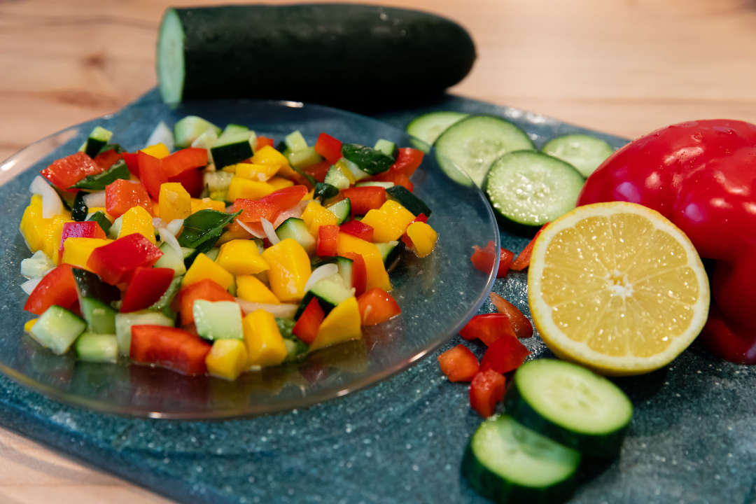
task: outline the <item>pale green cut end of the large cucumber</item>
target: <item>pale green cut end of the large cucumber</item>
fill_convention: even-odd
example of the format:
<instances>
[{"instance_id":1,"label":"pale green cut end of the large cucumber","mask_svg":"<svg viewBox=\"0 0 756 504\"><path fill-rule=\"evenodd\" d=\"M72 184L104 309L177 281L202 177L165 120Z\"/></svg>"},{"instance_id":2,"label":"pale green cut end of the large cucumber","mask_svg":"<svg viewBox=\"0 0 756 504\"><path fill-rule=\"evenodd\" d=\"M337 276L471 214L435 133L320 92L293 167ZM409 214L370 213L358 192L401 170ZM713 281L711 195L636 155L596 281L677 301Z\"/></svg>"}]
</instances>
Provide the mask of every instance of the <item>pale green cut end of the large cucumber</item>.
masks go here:
<instances>
[{"instance_id":1,"label":"pale green cut end of the large cucumber","mask_svg":"<svg viewBox=\"0 0 756 504\"><path fill-rule=\"evenodd\" d=\"M184 40L181 19L169 8L157 36L157 82L166 104L178 104L184 94Z\"/></svg>"}]
</instances>

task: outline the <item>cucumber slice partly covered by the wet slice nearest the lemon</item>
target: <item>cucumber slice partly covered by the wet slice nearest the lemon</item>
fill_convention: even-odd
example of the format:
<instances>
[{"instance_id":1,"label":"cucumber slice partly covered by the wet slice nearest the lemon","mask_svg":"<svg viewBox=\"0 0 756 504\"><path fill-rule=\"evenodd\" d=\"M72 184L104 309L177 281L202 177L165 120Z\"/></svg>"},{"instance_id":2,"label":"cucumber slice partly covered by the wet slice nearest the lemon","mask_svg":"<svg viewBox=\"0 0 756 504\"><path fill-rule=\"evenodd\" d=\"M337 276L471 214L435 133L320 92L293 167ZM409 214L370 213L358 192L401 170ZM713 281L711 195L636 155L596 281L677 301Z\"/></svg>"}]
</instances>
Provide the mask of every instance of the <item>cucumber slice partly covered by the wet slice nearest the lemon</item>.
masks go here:
<instances>
[{"instance_id":1,"label":"cucumber slice partly covered by the wet slice nearest the lemon","mask_svg":"<svg viewBox=\"0 0 756 504\"><path fill-rule=\"evenodd\" d=\"M462 169L478 187L494 159L513 150L535 150L519 126L495 116L469 116L442 133L434 144L438 165L454 181L469 185Z\"/></svg>"}]
</instances>

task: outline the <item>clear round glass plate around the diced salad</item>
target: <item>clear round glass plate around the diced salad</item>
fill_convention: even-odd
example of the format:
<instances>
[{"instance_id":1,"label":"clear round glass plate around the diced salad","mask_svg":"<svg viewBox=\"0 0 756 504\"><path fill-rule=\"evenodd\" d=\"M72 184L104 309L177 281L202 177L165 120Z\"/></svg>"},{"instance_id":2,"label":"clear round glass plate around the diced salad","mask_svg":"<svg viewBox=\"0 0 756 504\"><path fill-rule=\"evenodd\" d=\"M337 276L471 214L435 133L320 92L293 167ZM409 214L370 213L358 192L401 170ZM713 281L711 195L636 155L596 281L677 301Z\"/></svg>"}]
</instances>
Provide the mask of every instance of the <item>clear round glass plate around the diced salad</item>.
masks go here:
<instances>
[{"instance_id":1,"label":"clear round glass plate around the diced salad","mask_svg":"<svg viewBox=\"0 0 756 504\"><path fill-rule=\"evenodd\" d=\"M76 152L95 125L134 151L144 147L160 121L173 125L197 115L224 126L247 125L280 141L298 129L308 144L321 131L346 142L373 145L386 138L411 147L410 137L384 122L296 102L214 101L168 107L146 104L67 128L11 156L0 165L0 372L55 400L106 413L156 418L203 419L258 415L305 407L386 379L432 352L475 314L494 275L472 267L471 246L499 243L491 208L477 187L448 178L427 155L412 178L414 193L432 209L438 231L432 255L404 252L390 277L400 317L364 327L363 339L324 348L297 363L244 373L236 382L182 376L130 363L76 362L72 352L54 355L23 332L32 318L23 311L20 261L29 257L18 226L29 204L29 184L54 159Z\"/></svg>"}]
</instances>

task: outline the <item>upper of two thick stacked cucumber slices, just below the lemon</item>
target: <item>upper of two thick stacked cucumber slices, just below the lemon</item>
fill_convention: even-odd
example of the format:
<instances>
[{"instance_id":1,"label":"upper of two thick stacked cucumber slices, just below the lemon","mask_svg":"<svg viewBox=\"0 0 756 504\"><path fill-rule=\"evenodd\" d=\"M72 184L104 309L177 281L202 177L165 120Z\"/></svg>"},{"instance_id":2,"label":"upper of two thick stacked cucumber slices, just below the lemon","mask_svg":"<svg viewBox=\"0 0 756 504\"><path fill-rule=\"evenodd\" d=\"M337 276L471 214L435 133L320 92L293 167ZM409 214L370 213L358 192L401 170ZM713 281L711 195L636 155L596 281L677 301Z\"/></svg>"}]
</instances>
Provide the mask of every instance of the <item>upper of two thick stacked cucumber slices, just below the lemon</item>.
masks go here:
<instances>
[{"instance_id":1,"label":"upper of two thick stacked cucumber slices, just below the lemon","mask_svg":"<svg viewBox=\"0 0 756 504\"><path fill-rule=\"evenodd\" d=\"M563 360L538 359L517 369L504 399L507 413L585 456L614 458L633 405L603 376Z\"/></svg>"}]
</instances>

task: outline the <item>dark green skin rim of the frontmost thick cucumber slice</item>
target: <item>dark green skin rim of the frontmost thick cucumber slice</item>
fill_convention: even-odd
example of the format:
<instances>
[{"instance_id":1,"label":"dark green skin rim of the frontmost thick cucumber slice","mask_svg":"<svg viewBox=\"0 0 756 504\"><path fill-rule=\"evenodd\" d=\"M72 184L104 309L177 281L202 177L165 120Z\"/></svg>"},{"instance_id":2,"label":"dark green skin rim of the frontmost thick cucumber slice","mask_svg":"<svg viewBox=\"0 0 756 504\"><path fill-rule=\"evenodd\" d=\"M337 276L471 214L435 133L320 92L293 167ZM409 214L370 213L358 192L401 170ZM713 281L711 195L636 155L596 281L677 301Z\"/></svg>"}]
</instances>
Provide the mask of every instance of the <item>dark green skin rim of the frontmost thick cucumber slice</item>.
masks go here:
<instances>
[{"instance_id":1,"label":"dark green skin rim of the frontmost thick cucumber slice","mask_svg":"<svg viewBox=\"0 0 756 504\"><path fill-rule=\"evenodd\" d=\"M509 413L507 411L507 413ZM467 483L487 499L498 504L559 504L569 500L578 486L578 471L559 483L545 488L521 487L507 483L500 476L485 468L467 444L462 457L462 475Z\"/></svg>"}]
</instances>

